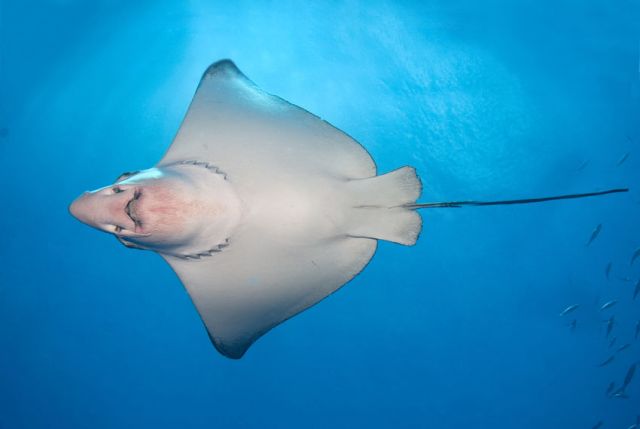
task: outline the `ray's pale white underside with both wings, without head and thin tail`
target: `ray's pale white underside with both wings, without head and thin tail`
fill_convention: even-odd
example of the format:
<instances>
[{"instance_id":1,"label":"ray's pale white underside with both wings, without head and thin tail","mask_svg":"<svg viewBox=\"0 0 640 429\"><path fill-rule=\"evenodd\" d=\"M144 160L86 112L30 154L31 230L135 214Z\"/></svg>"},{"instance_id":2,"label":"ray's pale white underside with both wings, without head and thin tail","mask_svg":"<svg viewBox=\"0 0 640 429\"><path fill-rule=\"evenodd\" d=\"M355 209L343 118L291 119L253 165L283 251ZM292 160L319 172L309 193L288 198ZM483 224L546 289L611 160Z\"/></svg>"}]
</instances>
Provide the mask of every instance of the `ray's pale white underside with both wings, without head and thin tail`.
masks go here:
<instances>
[{"instance_id":1,"label":"ray's pale white underside with both wings, without head and thin tail","mask_svg":"<svg viewBox=\"0 0 640 429\"><path fill-rule=\"evenodd\" d=\"M351 280L377 239L413 244L420 232L419 215L401 207L420 193L412 168L376 176L357 142L260 90L230 61L207 70L157 167L196 168L191 160L224 173L230 217L181 252L158 251L228 357ZM184 257L223 235L219 251Z\"/></svg>"}]
</instances>

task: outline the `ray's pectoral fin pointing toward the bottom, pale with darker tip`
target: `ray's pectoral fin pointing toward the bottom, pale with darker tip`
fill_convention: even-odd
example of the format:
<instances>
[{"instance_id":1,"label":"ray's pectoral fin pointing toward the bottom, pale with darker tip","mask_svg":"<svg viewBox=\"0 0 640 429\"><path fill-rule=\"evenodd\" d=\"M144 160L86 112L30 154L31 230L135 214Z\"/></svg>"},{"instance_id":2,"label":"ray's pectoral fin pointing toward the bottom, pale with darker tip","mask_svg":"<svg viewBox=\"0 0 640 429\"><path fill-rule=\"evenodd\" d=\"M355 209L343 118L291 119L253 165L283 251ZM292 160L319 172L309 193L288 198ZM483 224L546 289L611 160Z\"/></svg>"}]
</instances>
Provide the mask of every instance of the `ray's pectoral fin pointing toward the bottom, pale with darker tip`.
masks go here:
<instances>
[{"instance_id":1,"label":"ray's pectoral fin pointing toward the bottom, pale with darker tip","mask_svg":"<svg viewBox=\"0 0 640 429\"><path fill-rule=\"evenodd\" d=\"M369 262L376 240L341 237L291 249L245 229L199 260L163 255L185 286L216 349L239 359L260 336L322 300Z\"/></svg>"}]
</instances>

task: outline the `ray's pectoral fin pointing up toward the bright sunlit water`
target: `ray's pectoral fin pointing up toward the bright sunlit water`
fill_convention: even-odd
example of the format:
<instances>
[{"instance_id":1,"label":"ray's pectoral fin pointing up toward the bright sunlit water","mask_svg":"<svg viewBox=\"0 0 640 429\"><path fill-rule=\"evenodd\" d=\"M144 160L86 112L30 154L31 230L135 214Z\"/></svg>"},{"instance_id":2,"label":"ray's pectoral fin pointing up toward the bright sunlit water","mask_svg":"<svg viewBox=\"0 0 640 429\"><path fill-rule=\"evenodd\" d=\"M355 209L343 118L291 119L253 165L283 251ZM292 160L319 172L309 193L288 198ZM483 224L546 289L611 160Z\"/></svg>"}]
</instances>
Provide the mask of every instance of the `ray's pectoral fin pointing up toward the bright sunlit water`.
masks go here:
<instances>
[{"instance_id":1,"label":"ray's pectoral fin pointing up toward the bright sunlit water","mask_svg":"<svg viewBox=\"0 0 640 429\"><path fill-rule=\"evenodd\" d=\"M259 175L278 180L280 172L287 177L309 171L344 178L376 174L373 159L358 142L258 88L229 60L206 70L158 165L187 159L221 167L239 188L254 188Z\"/></svg>"}]
</instances>

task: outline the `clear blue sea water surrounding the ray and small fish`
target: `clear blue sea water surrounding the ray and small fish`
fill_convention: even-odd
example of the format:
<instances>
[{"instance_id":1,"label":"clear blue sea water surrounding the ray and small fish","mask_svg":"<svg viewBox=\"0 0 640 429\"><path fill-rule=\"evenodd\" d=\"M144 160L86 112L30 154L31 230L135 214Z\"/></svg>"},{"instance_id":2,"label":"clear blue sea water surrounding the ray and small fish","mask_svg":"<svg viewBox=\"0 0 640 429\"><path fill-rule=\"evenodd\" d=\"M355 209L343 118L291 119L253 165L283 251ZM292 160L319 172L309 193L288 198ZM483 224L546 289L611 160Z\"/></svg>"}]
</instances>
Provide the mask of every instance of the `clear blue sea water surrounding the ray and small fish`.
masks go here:
<instances>
[{"instance_id":1,"label":"clear blue sea water surrounding the ray and small fish","mask_svg":"<svg viewBox=\"0 0 640 429\"><path fill-rule=\"evenodd\" d=\"M627 428L640 380L605 389L640 352L639 40L626 0L0 0L0 427ZM220 58L415 166L422 201L632 190L424 212L232 361L160 257L67 212L159 160Z\"/></svg>"}]
</instances>

